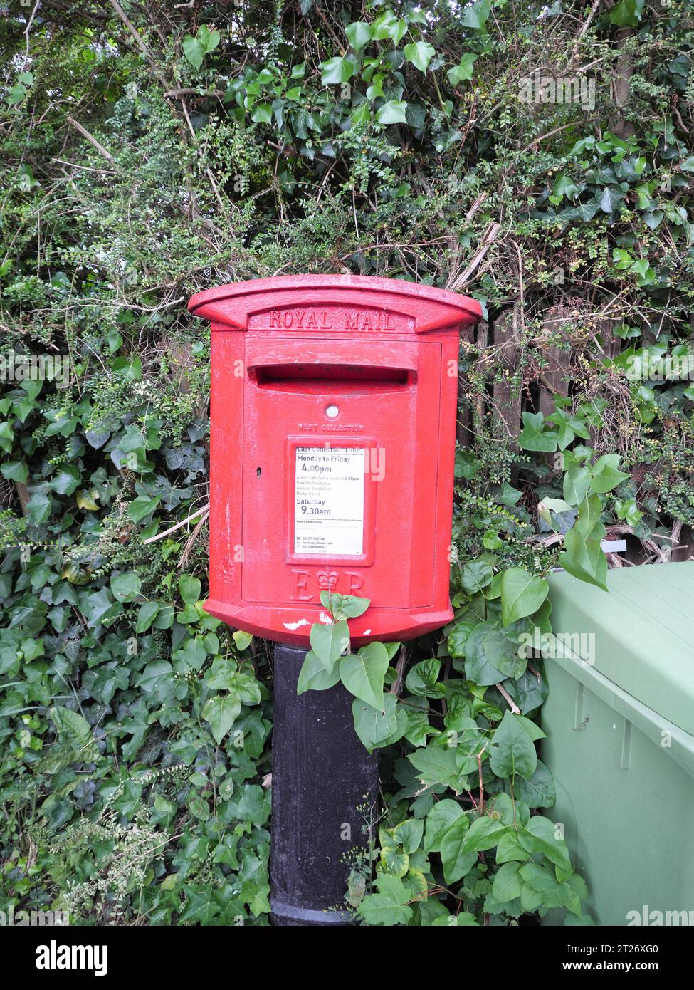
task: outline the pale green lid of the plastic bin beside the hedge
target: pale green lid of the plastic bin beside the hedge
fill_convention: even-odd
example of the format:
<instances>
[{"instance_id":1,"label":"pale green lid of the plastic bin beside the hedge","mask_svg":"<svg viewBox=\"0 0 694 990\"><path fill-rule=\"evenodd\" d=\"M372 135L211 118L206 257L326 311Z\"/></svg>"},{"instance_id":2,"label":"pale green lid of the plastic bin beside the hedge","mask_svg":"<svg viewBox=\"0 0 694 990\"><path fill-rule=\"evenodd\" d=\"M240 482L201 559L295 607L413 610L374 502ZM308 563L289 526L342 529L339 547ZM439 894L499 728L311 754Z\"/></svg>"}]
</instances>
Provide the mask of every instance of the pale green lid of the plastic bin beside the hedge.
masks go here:
<instances>
[{"instance_id":1,"label":"pale green lid of the plastic bin beside the hedge","mask_svg":"<svg viewBox=\"0 0 694 990\"><path fill-rule=\"evenodd\" d=\"M614 568L607 584L609 592L565 572L550 575L556 648L579 653L694 736L694 561Z\"/></svg>"}]
</instances>

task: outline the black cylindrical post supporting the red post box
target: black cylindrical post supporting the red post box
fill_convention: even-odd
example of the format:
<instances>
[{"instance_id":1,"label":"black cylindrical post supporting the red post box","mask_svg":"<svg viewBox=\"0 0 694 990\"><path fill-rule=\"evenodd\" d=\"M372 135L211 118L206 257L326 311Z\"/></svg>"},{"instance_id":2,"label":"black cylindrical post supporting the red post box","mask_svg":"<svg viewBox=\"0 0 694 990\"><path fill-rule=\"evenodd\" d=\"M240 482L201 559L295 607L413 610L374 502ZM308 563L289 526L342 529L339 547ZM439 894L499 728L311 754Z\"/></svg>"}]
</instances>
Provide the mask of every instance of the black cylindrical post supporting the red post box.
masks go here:
<instances>
[{"instance_id":1,"label":"black cylindrical post supporting the red post box","mask_svg":"<svg viewBox=\"0 0 694 990\"><path fill-rule=\"evenodd\" d=\"M345 926L346 859L367 846L357 808L377 801L378 756L354 733L342 684L297 696L305 656L284 644L274 651L270 922Z\"/></svg>"}]
</instances>

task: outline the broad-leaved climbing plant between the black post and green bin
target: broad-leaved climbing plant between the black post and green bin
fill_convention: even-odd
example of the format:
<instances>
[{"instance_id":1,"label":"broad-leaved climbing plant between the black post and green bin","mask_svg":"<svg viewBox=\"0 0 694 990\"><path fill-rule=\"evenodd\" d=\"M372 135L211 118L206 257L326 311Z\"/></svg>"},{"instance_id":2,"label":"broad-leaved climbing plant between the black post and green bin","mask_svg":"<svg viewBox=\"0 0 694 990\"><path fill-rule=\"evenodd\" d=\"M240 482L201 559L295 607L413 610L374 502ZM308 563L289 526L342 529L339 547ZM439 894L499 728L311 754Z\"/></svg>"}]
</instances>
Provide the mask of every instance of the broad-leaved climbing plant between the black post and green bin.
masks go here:
<instances>
[{"instance_id":1,"label":"broad-leaved climbing plant between the black post and green bin","mask_svg":"<svg viewBox=\"0 0 694 990\"><path fill-rule=\"evenodd\" d=\"M583 423L572 422L582 435ZM524 443L554 449L556 431L552 423L544 427L529 419ZM566 499L545 498L538 509L552 532L563 528L564 569L607 590L600 517L608 493L629 475L619 470L618 455L591 462L591 452L577 449L565 464ZM399 643L351 651L348 620L363 615L368 599L321 594L329 612L311 629L297 691L343 683L354 696L354 730L364 746L396 747L405 757L397 779L410 801L402 801L401 813L412 816L381 826L375 890L357 883L359 864L347 904L374 925L469 926L488 915L518 918L550 908L590 924L581 908L585 882L571 867L562 827L533 814L554 801L551 774L536 750L544 733L533 721L546 681L542 649L536 658L531 644L551 633L544 572L504 566L485 550L462 566L455 562L453 584L455 618L446 641L407 668Z\"/></svg>"}]
</instances>

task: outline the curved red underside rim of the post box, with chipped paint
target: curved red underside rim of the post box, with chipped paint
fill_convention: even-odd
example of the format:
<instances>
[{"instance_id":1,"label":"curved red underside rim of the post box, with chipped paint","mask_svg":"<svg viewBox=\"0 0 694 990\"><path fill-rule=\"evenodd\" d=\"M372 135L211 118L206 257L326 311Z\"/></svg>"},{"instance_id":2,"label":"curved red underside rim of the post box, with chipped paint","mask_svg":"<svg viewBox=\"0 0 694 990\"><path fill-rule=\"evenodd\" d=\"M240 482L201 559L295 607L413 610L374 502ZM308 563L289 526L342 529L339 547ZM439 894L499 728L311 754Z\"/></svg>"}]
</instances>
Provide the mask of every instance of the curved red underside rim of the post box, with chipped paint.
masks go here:
<instances>
[{"instance_id":1,"label":"curved red underside rim of the post box, with chipped paint","mask_svg":"<svg viewBox=\"0 0 694 990\"><path fill-rule=\"evenodd\" d=\"M233 605L216 598L208 598L205 611L216 619L245 633L277 641L277 625L286 630L282 643L309 648L309 633L317 622L328 622L330 617L320 605L309 603L305 607L288 608L280 605ZM362 646L378 640L393 643L399 640L414 640L418 636L432 633L446 626L453 618L453 610L446 609L411 612L405 609L369 608L358 619L349 620L349 634L352 645Z\"/></svg>"}]
</instances>

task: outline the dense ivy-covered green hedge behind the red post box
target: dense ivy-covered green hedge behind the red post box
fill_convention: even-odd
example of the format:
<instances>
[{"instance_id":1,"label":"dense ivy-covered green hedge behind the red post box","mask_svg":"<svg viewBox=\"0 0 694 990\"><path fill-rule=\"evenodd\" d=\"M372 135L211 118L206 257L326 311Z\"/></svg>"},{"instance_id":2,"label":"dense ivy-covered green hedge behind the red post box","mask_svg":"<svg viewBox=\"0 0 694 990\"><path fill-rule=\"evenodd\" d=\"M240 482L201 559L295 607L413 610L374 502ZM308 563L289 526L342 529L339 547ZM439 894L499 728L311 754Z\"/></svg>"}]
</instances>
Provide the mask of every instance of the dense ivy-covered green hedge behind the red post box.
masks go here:
<instances>
[{"instance_id":1,"label":"dense ivy-covered green hedge behind the red post box","mask_svg":"<svg viewBox=\"0 0 694 990\"><path fill-rule=\"evenodd\" d=\"M562 562L598 583L605 524L666 555L693 519L694 390L660 373L691 334L691 5L8 7L3 366L69 365L2 382L2 900L266 924L271 657L199 604L209 335L185 304L352 271L464 291L488 320L461 354L457 620L393 657L377 887L355 854L349 903L369 924L587 923L530 818L552 801L538 731L509 707L542 703L542 661L511 645L546 607L533 584L506 614L502 575L544 582L576 513ZM547 376L567 397L543 413ZM495 385L523 396L518 444Z\"/></svg>"}]
</instances>

